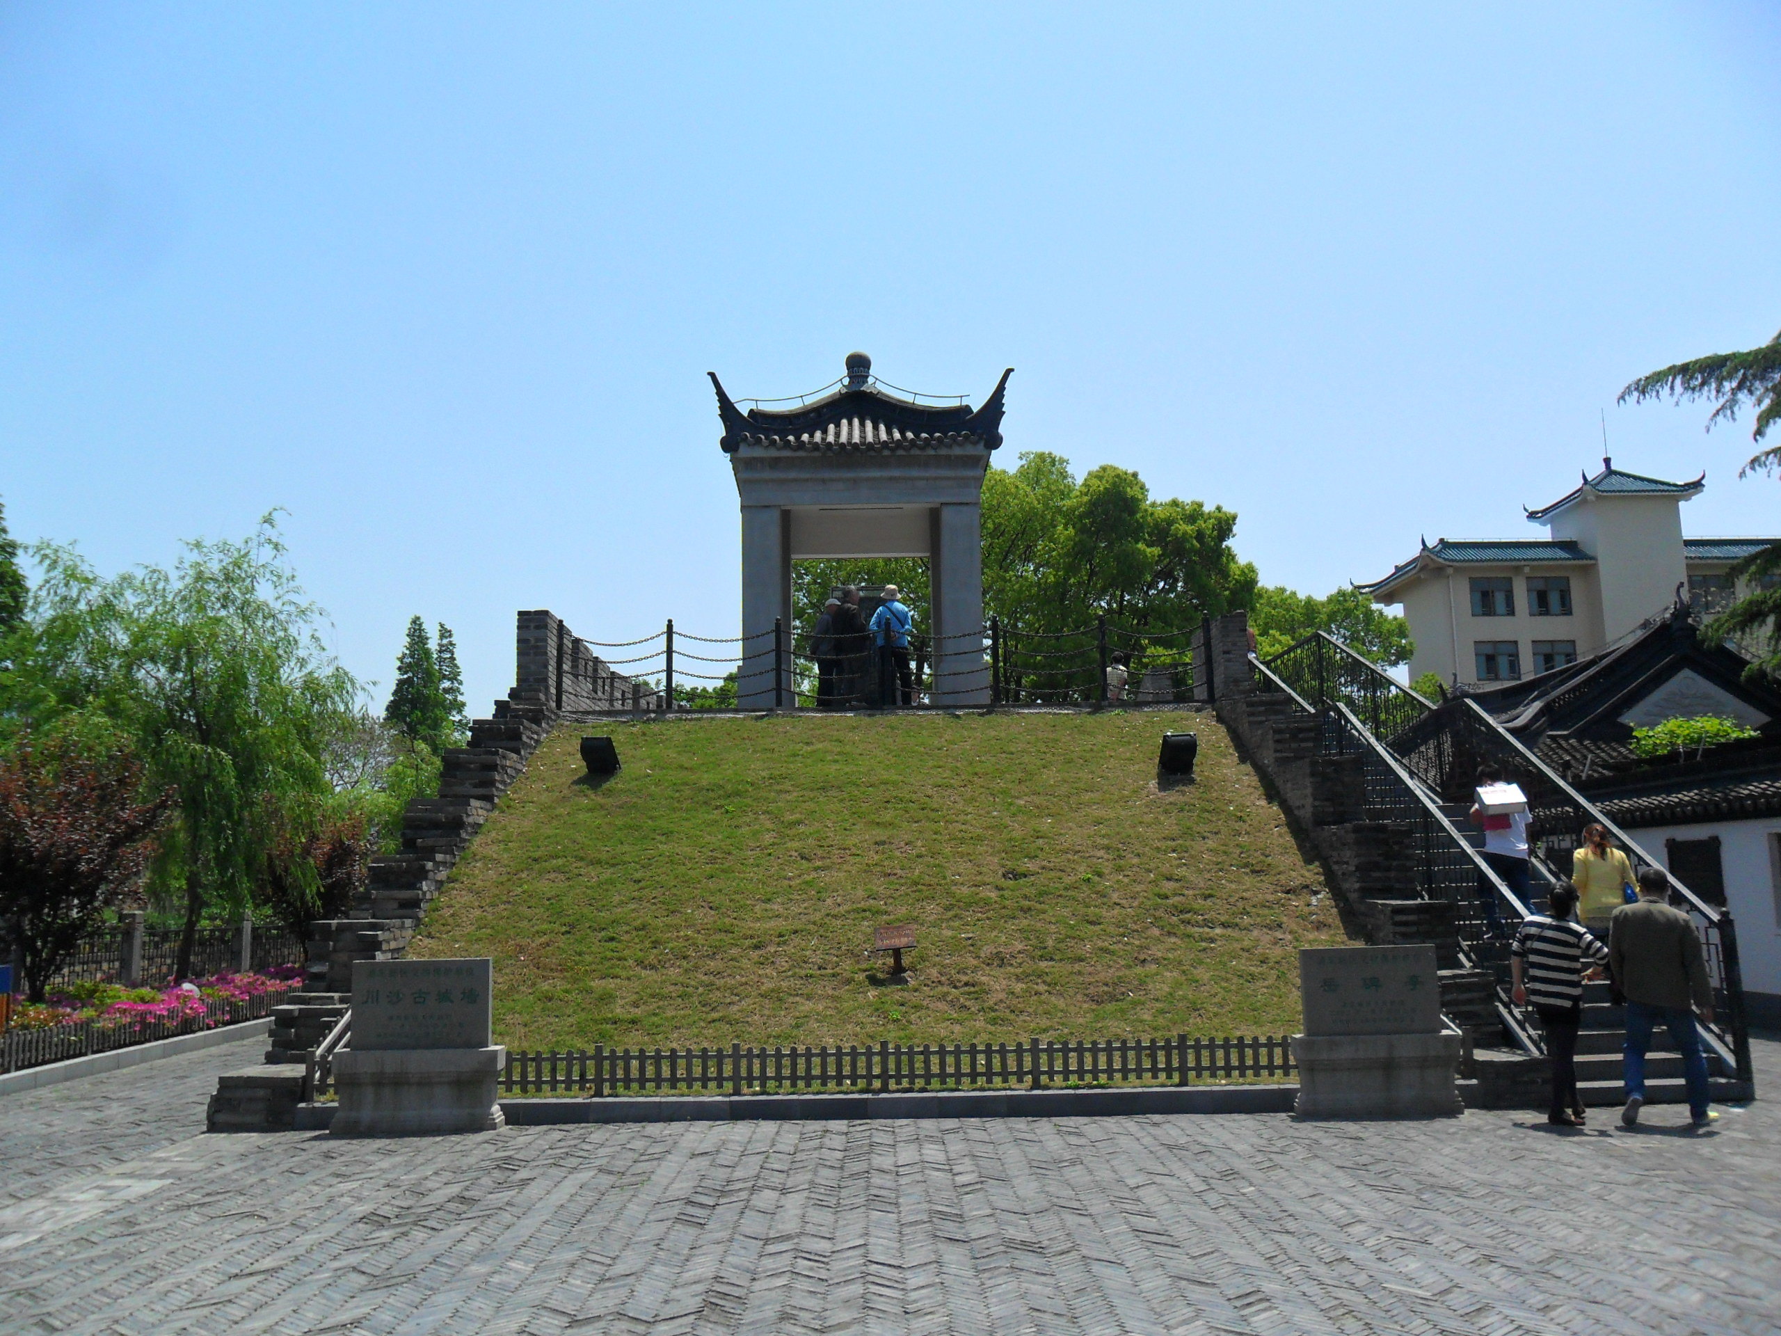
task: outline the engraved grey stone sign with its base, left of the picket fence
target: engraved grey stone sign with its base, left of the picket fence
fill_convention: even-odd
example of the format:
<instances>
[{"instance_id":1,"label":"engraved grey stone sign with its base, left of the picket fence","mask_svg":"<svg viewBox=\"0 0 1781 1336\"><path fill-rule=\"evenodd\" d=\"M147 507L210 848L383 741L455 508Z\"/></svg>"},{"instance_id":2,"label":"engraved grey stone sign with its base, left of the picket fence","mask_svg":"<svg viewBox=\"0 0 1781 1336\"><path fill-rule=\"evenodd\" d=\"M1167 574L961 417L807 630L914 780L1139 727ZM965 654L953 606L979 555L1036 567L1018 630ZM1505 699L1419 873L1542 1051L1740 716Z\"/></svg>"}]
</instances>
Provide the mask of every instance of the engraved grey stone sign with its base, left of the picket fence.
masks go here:
<instances>
[{"instance_id":1,"label":"engraved grey stone sign with its base, left of the picket fence","mask_svg":"<svg viewBox=\"0 0 1781 1336\"><path fill-rule=\"evenodd\" d=\"M490 1044L493 962L356 960L353 1028L335 1055L333 1136L495 1131L508 1049Z\"/></svg>"}]
</instances>

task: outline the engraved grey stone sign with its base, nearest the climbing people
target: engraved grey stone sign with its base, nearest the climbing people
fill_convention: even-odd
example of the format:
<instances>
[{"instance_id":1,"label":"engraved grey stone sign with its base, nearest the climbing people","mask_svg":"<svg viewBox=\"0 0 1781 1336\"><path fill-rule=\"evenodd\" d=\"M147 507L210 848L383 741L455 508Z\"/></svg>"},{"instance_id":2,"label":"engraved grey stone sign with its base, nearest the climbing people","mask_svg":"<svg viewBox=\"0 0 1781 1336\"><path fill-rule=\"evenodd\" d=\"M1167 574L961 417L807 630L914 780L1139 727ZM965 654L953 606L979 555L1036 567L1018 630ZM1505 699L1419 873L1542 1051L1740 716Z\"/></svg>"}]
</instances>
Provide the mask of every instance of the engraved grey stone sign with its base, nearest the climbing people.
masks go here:
<instances>
[{"instance_id":1,"label":"engraved grey stone sign with its base, nearest the climbing people","mask_svg":"<svg viewBox=\"0 0 1781 1336\"><path fill-rule=\"evenodd\" d=\"M1298 953L1305 1030L1293 1035L1302 1119L1462 1113L1460 1035L1441 1021L1434 946Z\"/></svg>"}]
</instances>

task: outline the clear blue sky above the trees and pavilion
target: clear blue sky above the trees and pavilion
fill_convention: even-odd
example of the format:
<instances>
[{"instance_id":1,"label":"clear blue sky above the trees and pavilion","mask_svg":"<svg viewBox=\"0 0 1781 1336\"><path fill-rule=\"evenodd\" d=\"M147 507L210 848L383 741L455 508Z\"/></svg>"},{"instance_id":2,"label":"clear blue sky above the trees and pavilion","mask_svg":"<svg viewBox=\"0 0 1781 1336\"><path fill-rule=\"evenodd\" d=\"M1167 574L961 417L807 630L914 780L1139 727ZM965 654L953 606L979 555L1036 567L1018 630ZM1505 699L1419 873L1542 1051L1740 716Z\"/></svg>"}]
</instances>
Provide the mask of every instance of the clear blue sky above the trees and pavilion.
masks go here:
<instances>
[{"instance_id":1,"label":"clear blue sky above the trees and pavilion","mask_svg":"<svg viewBox=\"0 0 1781 1336\"><path fill-rule=\"evenodd\" d=\"M1537 536L1615 408L1781 326L1781 12L1603 5L0 7L0 497L112 572L272 506L344 663L472 709L513 613L736 634L705 381L1010 383L1003 463L1240 515L1266 582ZM381 695L379 695L381 700Z\"/></svg>"}]
</instances>

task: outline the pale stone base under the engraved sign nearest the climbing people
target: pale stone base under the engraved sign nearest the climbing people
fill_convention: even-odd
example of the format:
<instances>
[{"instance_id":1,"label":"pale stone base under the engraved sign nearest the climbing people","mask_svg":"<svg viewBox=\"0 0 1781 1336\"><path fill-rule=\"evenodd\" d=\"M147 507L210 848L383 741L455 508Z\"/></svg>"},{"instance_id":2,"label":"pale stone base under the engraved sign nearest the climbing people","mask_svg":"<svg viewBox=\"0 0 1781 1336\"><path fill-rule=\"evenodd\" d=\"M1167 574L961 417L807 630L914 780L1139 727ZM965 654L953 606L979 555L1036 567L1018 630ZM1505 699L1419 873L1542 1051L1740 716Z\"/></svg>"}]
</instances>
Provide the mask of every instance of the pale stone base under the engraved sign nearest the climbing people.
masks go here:
<instances>
[{"instance_id":1,"label":"pale stone base under the engraved sign nearest the climbing people","mask_svg":"<svg viewBox=\"0 0 1781 1336\"><path fill-rule=\"evenodd\" d=\"M1460 1035L1293 1035L1302 1119L1464 1113L1453 1087Z\"/></svg>"}]
</instances>

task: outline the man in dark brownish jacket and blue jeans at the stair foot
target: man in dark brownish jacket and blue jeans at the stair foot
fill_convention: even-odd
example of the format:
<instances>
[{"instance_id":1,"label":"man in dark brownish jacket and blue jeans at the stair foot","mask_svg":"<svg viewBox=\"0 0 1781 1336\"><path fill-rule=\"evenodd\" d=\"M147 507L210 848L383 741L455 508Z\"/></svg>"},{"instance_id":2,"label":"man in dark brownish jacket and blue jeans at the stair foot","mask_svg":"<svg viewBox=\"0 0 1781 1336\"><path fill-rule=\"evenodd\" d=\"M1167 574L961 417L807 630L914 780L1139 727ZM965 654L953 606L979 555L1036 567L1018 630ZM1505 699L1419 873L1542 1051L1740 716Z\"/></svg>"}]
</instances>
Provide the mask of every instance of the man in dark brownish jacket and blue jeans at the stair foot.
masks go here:
<instances>
[{"instance_id":1,"label":"man in dark brownish jacket and blue jeans at the stair foot","mask_svg":"<svg viewBox=\"0 0 1781 1336\"><path fill-rule=\"evenodd\" d=\"M1669 1026L1681 1053L1694 1126L1704 1128L1713 1120L1706 1108L1706 1055L1694 1024L1696 1010L1703 1021L1713 1019L1713 987L1706 978L1701 937L1687 914L1663 903L1667 891L1669 875L1662 868L1646 868L1639 873L1639 903L1614 910L1608 928L1608 964L1615 985L1626 994L1626 1108L1621 1124L1628 1128L1639 1122L1646 1103L1646 1051L1658 1021Z\"/></svg>"}]
</instances>

